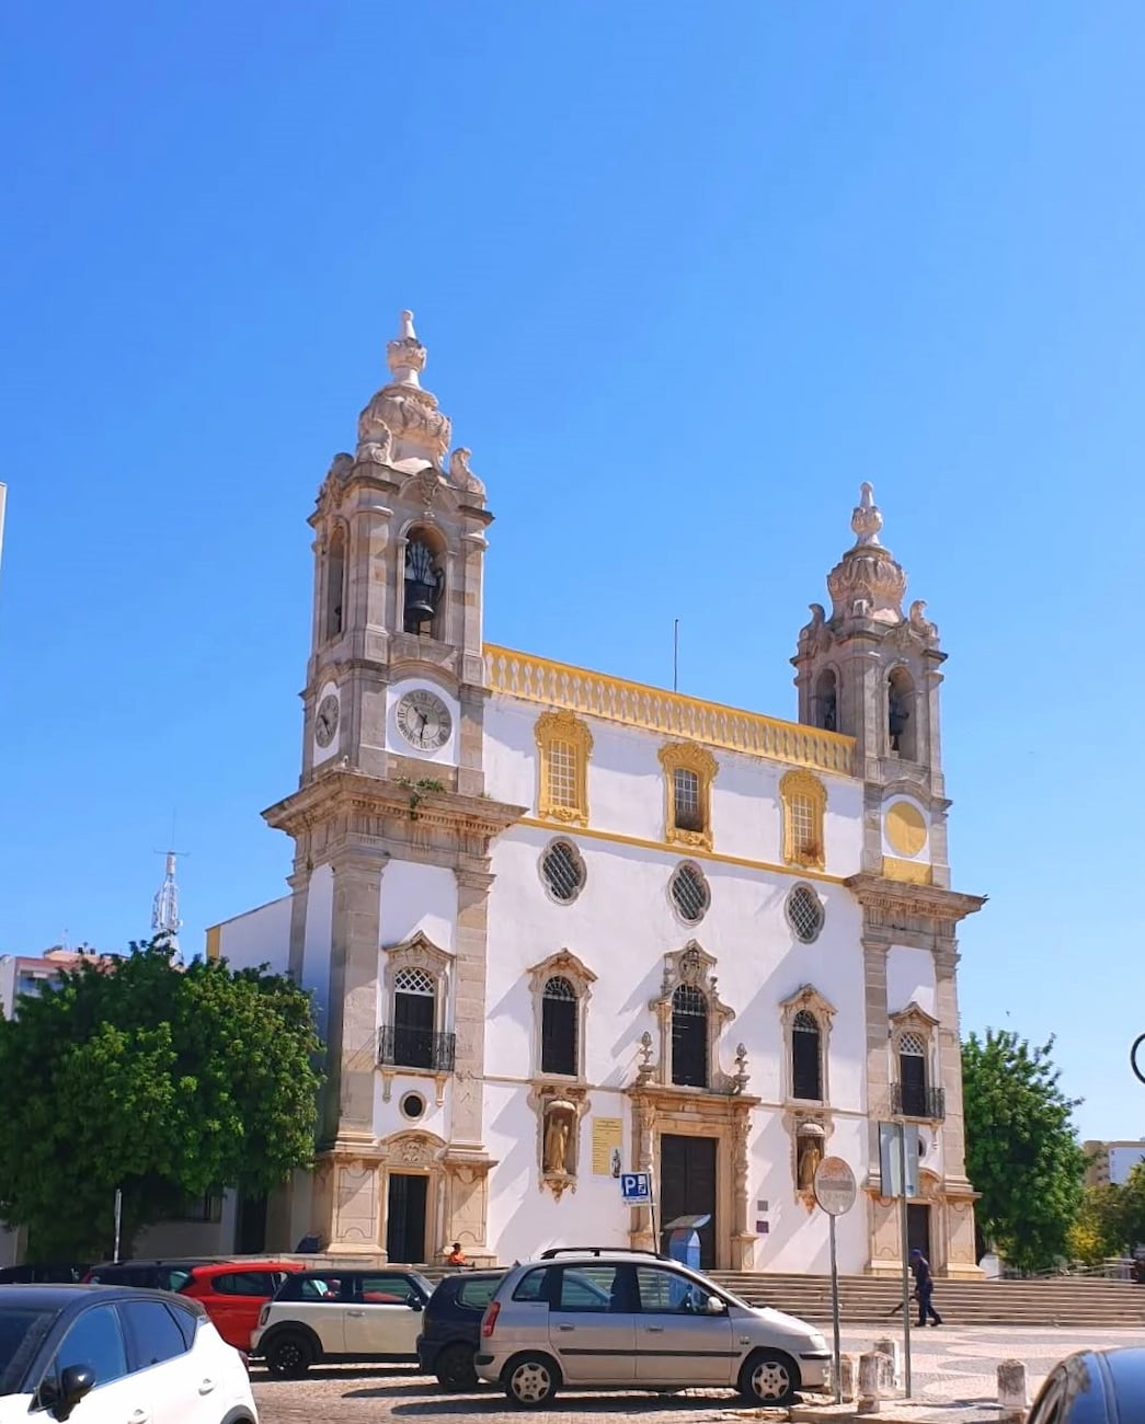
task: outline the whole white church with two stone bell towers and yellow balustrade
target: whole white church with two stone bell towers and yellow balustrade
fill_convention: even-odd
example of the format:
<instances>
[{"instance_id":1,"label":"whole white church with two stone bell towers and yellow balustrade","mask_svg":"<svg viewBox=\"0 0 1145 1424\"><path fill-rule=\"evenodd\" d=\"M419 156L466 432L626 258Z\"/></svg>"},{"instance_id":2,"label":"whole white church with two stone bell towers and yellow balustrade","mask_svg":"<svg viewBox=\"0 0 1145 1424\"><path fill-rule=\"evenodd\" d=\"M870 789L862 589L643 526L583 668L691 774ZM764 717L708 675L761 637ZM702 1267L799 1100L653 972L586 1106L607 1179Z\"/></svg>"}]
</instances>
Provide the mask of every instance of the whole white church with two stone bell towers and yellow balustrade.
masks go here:
<instances>
[{"instance_id":1,"label":"whole white church with two stone bell towers and yellow balustrade","mask_svg":"<svg viewBox=\"0 0 1145 1424\"><path fill-rule=\"evenodd\" d=\"M504 1262L699 1216L708 1267L825 1272L829 1155L859 1182L840 1269L894 1272L879 1125L906 1122L909 1243L977 1274L956 928L981 900L950 887L944 654L873 491L799 632L796 722L516 652L484 641L486 488L409 313L387 356L310 515L302 775L265 812L289 894L208 931L312 990L328 1042L268 1247Z\"/></svg>"}]
</instances>

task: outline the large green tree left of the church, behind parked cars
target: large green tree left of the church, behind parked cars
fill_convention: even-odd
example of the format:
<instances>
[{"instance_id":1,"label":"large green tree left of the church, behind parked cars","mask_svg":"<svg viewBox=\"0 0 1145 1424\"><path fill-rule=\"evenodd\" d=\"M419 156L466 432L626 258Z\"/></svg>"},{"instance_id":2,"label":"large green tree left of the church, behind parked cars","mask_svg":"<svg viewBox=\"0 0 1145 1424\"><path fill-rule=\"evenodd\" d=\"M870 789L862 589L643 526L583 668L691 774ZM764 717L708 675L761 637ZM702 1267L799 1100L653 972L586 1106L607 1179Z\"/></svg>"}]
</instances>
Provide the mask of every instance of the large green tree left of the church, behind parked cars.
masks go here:
<instances>
[{"instance_id":1,"label":"large green tree left of the church, behind parked cars","mask_svg":"<svg viewBox=\"0 0 1145 1424\"><path fill-rule=\"evenodd\" d=\"M93 960L0 1021L0 1219L40 1259L100 1259L188 1198L313 1158L309 995L263 970L172 968L162 940Z\"/></svg>"}]
</instances>

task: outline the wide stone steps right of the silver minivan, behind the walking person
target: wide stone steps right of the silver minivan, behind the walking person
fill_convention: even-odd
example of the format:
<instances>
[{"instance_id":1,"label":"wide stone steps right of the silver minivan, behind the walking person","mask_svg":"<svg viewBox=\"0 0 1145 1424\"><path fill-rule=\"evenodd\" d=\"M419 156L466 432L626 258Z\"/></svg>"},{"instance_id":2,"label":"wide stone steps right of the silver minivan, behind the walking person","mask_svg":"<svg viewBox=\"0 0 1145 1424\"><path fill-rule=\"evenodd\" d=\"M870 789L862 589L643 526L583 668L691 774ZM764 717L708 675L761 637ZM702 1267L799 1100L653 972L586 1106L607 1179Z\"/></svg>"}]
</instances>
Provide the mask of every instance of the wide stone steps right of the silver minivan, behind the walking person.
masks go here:
<instances>
[{"instance_id":1,"label":"wide stone steps right of the silver minivan, behind the walking person","mask_svg":"<svg viewBox=\"0 0 1145 1424\"><path fill-rule=\"evenodd\" d=\"M830 1277L712 1272L751 1304L775 1306L815 1323L830 1320ZM890 1320L900 1306L897 1279L840 1276L840 1317L847 1324ZM936 1280L934 1304L960 1326L1131 1326L1145 1327L1145 1287L1121 1280ZM901 1316L901 1309L894 1319Z\"/></svg>"}]
</instances>

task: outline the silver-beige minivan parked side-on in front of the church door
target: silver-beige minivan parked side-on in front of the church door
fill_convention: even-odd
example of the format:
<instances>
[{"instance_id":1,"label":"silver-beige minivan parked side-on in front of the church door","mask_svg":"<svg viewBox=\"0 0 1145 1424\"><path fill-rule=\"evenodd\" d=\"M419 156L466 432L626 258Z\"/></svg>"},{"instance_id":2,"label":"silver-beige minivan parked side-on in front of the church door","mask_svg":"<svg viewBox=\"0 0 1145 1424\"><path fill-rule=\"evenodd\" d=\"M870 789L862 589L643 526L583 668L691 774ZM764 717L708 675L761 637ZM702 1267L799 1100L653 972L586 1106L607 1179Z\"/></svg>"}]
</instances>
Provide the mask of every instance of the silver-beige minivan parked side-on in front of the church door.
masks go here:
<instances>
[{"instance_id":1,"label":"silver-beige minivan parked side-on in front of the church door","mask_svg":"<svg viewBox=\"0 0 1145 1424\"><path fill-rule=\"evenodd\" d=\"M508 1270L474 1357L477 1374L518 1408L548 1404L561 1386L731 1386L751 1404L788 1404L798 1390L826 1387L829 1361L815 1326L749 1306L651 1252L608 1247L551 1252Z\"/></svg>"}]
</instances>

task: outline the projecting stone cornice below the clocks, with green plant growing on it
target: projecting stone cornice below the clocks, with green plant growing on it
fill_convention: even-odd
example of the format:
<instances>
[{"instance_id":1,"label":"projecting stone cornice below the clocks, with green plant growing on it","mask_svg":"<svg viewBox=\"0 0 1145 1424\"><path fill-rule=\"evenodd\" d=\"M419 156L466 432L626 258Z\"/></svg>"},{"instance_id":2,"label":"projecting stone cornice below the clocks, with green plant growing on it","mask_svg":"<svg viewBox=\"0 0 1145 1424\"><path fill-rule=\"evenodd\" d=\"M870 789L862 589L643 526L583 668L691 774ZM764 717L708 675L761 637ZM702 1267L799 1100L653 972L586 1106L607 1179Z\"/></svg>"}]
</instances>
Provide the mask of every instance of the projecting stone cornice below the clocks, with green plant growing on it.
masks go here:
<instances>
[{"instance_id":1,"label":"projecting stone cornice below the clocks, with green plant growing on it","mask_svg":"<svg viewBox=\"0 0 1145 1424\"><path fill-rule=\"evenodd\" d=\"M400 782L336 766L320 772L306 786L275 802L262 816L275 830L283 830L295 837L349 815L355 819L367 817L375 824L360 833L350 829L347 842L359 840L362 836L373 839L383 834L404 840L416 826L422 832L451 833L464 843L474 844L487 843L498 836L516 824L524 813L524 806L510 806L484 796L461 796L456 792L419 789L413 800L410 787Z\"/></svg>"}]
</instances>

